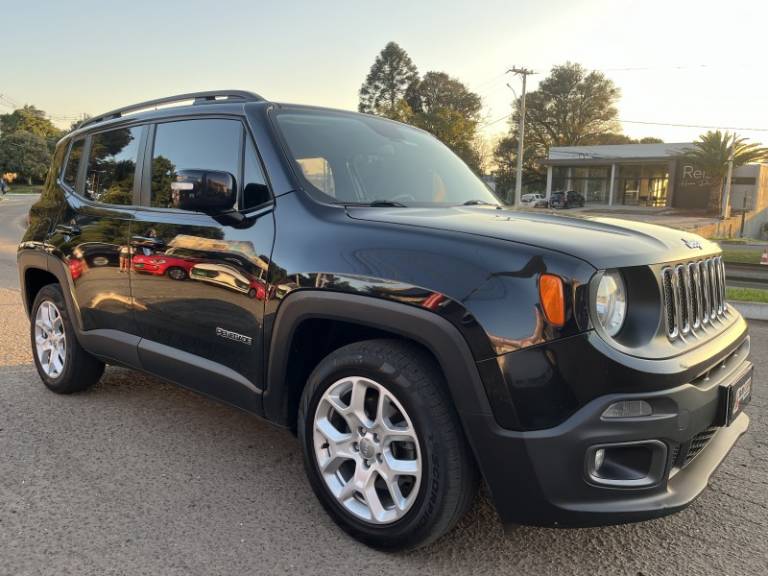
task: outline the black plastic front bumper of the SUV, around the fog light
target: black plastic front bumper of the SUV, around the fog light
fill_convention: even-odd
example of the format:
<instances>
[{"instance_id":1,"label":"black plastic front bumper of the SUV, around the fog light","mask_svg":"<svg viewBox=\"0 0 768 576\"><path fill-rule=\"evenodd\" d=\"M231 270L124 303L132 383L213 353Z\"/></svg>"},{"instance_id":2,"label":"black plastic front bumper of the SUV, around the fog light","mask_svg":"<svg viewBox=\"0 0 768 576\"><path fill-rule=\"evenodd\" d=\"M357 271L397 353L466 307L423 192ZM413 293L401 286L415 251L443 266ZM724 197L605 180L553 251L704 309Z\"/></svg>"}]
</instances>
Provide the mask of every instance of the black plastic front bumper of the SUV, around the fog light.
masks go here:
<instances>
[{"instance_id":1,"label":"black plastic front bumper of the SUV, around the fog light","mask_svg":"<svg viewBox=\"0 0 768 576\"><path fill-rule=\"evenodd\" d=\"M690 383L602 395L543 430L507 430L488 415L464 415L502 520L543 526L618 524L663 516L690 504L747 430L749 418L743 413L730 426L713 425L723 407L720 388L751 369L748 354L745 335L725 359ZM602 417L614 402L633 399L649 402L654 414ZM643 441L663 444L663 468L653 484L606 486L594 481L587 456L595 446Z\"/></svg>"}]
</instances>

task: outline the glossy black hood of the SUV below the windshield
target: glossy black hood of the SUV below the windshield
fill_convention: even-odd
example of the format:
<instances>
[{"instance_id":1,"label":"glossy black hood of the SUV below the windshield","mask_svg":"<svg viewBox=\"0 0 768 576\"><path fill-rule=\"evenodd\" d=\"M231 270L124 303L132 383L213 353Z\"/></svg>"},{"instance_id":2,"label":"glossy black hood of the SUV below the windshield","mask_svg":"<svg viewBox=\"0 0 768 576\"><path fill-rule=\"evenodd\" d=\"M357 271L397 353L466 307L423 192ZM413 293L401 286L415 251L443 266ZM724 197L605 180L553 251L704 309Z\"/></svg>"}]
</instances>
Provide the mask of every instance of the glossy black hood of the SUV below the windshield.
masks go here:
<instances>
[{"instance_id":1,"label":"glossy black hood of the SUV below the windshield","mask_svg":"<svg viewBox=\"0 0 768 576\"><path fill-rule=\"evenodd\" d=\"M432 228L539 246L576 256L601 269L698 258L720 250L714 242L690 232L618 218L465 206L348 207L347 213L356 220Z\"/></svg>"}]
</instances>

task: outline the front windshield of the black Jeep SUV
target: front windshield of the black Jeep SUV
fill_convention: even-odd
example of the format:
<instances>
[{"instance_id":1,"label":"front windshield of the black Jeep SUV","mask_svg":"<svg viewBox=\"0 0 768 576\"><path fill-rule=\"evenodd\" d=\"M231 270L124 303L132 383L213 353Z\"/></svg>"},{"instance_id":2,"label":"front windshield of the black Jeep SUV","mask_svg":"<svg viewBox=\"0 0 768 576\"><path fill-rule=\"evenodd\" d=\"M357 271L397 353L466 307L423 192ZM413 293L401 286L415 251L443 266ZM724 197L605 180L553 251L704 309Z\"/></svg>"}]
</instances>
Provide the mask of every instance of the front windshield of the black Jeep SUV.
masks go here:
<instances>
[{"instance_id":1,"label":"front windshield of the black Jeep SUV","mask_svg":"<svg viewBox=\"0 0 768 576\"><path fill-rule=\"evenodd\" d=\"M284 111L277 124L315 192L340 204L499 202L464 162L429 134L365 115Z\"/></svg>"}]
</instances>

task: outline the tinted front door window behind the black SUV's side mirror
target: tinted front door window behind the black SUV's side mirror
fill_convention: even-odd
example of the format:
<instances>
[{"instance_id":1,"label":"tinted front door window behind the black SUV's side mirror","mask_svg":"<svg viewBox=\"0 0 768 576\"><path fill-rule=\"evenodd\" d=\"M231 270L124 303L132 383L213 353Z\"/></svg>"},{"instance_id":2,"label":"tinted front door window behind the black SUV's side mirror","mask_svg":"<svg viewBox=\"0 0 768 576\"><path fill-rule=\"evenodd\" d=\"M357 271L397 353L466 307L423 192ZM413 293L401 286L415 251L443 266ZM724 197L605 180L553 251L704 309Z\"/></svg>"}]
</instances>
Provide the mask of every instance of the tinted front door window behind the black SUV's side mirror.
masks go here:
<instances>
[{"instance_id":1,"label":"tinted front door window behind the black SUV's side mirror","mask_svg":"<svg viewBox=\"0 0 768 576\"><path fill-rule=\"evenodd\" d=\"M237 120L183 120L158 124L152 154L152 206L176 208L171 183L181 170L240 174L243 125Z\"/></svg>"}]
</instances>

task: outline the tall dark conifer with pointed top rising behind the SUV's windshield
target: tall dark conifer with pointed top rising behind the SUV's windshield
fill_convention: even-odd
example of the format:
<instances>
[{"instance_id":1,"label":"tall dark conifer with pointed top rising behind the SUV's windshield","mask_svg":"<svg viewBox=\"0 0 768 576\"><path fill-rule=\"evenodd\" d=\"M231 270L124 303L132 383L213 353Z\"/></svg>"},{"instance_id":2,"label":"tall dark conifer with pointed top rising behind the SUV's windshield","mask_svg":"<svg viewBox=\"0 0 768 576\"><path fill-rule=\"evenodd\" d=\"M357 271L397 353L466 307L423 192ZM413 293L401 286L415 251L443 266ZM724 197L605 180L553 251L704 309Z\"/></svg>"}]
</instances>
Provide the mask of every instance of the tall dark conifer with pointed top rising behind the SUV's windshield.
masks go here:
<instances>
[{"instance_id":1,"label":"tall dark conifer with pointed top rising behind the SUV's windshield","mask_svg":"<svg viewBox=\"0 0 768 576\"><path fill-rule=\"evenodd\" d=\"M418 70L408 53L396 42L389 42L360 87L358 109L396 120L407 119L408 109L403 106L405 93L418 78Z\"/></svg>"}]
</instances>

